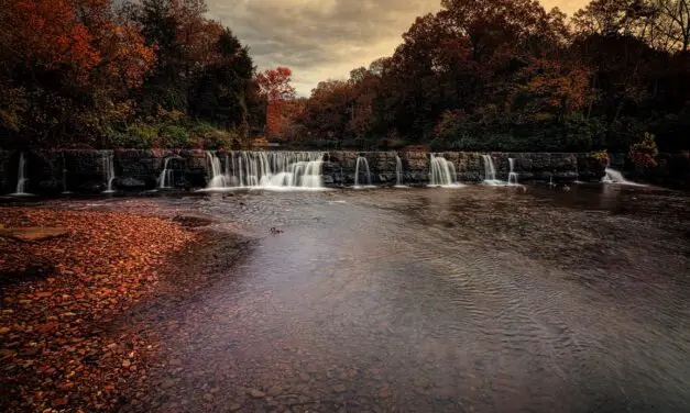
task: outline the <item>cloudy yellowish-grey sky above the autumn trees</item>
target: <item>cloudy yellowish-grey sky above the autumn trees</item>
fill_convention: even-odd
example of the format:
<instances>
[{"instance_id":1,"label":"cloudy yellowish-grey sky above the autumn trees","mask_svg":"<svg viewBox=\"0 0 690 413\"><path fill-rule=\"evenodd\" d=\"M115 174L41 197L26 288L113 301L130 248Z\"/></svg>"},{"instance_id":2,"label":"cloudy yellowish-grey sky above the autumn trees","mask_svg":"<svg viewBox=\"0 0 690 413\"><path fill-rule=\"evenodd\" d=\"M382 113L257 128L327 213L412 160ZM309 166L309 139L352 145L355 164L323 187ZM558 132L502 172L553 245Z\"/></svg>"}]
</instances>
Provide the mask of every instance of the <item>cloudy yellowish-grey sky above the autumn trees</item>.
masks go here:
<instances>
[{"instance_id":1,"label":"cloudy yellowish-grey sky above the autumn trees","mask_svg":"<svg viewBox=\"0 0 690 413\"><path fill-rule=\"evenodd\" d=\"M486 0L491 1L491 0ZM588 0L541 0L572 15ZM391 56L418 15L440 0L207 0L209 16L249 45L259 70L287 66L298 96L321 80Z\"/></svg>"}]
</instances>

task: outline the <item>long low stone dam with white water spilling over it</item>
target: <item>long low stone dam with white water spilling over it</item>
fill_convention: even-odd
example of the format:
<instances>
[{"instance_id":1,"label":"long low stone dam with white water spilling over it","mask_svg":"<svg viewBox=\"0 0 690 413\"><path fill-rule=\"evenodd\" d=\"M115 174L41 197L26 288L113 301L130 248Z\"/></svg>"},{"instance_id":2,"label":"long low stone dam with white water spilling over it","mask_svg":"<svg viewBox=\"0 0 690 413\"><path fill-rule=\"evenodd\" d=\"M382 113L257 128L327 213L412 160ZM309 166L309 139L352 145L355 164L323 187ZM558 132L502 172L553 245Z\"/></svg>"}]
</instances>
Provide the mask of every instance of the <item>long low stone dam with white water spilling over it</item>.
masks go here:
<instances>
[{"instance_id":1,"label":"long low stone dam with white water spilling over it","mask_svg":"<svg viewBox=\"0 0 690 413\"><path fill-rule=\"evenodd\" d=\"M687 154L660 154L657 159L658 167L643 179L689 187ZM638 177L629 164L626 154L610 155L610 167ZM20 182L21 192L35 194L252 187L266 175L289 185L278 171L318 177L318 187L331 188L358 181L372 186L425 186L439 179L441 183L507 182L511 172L519 182L599 182L606 166L606 160L589 153L0 149L0 193L20 192Z\"/></svg>"}]
</instances>

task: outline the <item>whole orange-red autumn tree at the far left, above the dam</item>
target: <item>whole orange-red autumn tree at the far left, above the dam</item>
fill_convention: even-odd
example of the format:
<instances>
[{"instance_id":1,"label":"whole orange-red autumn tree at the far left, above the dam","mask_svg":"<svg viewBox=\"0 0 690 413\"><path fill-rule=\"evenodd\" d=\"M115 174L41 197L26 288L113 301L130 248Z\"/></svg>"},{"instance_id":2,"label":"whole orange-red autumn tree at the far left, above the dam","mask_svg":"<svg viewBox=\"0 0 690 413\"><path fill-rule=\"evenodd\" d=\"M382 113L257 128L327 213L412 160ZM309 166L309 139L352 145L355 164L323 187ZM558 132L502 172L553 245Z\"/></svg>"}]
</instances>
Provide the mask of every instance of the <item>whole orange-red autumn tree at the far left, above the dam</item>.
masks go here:
<instances>
[{"instance_id":1,"label":"whole orange-red autumn tree at the far left, above the dam","mask_svg":"<svg viewBox=\"0 0 690 413\"><path fill-rule=\"evenodd\" d=\"M0 10L2 127L18 145L96 143L153 63L107 0L21 0Z\"/></svg>"}]
</instances>

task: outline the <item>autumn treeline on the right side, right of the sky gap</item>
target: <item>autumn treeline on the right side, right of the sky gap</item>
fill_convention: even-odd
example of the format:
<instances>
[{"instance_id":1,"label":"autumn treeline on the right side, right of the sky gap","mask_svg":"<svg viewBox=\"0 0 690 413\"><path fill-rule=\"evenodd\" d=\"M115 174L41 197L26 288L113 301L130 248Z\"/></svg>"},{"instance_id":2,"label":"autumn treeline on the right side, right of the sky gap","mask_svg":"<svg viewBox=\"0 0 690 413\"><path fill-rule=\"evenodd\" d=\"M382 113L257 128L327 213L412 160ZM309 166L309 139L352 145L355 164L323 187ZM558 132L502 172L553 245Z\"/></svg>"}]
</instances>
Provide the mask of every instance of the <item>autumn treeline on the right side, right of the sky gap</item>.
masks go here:
<instances>
[{"instance_id":1,"label":"autumn treeline on the right side, right of the sky gap","mask_svg":"<svg viewBox=\"0 0 690 413\"><path fill-rule=\"evenodd\" d=\"M392 57L320 82L283 133L329 147L690 148L690 1L595 0L572 19L532 0L441 4Z\"/></svg>"}]
</instances>

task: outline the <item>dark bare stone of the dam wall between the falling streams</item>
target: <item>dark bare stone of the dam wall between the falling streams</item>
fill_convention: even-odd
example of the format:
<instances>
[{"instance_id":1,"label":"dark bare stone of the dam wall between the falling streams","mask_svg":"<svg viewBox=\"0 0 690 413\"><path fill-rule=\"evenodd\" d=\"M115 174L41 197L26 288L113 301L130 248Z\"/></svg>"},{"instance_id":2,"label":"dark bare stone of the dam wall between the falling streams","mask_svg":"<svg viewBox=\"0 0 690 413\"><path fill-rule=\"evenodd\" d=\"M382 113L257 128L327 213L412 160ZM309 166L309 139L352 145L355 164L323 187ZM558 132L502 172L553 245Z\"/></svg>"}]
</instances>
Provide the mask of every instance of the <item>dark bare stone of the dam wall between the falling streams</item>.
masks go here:
<instances>
[{"instance_id":1,"label":"dark bare stone of the dam wall between the falling streams","mask_svg":"<svg viewBox=\"0 0 690 413\"><path fill-rule=\"evenodd\" d=\"M109 150L26 150L28 187L32 193L97 192L106 188L103 159L112 155L119 190L153 189L168 158L173 186L178 189L202 188L211 178L210 163L202 150L175 149L118 149ZM224 153L219 153L220 159ZM485 179L484 163L480 153L447 152L436 154L448 159L456 168L461 182L481 182ZM599 181L605 165L590 154L573 153L491 153L496 179L507 180L508 158L514 158L515 172L521 182ZM324 153L324 183L350 186L355 181L358 156L366 158L373 185L394 185L396 156L403 165L405 185L425 185L429 177L430 154L426 152L329 152ZM0 193L14 192L18 178L19 152L0 149ZM690 160L687 154L658 156L656 168L638 170L623 155L611 156L613 168L622 170L633 180L649 181L690 189ZM366 183L364 174L359 177Z\"/></svg>"}]
</instances>

